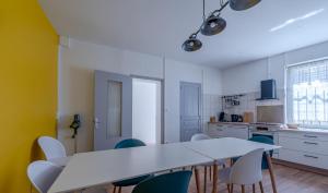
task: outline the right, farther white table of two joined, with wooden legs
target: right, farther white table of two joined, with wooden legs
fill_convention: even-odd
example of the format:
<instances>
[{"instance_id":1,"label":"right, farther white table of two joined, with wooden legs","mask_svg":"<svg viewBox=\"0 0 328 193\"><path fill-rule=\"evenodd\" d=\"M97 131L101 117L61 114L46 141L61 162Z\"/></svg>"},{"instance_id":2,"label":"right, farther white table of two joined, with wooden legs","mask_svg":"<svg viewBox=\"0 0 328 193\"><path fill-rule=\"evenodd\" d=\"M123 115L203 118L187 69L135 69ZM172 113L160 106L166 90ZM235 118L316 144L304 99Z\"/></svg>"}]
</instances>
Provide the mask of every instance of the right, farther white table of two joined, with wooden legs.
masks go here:
<instances>
[{"instance_id":1,"label":"right, farther white table of two joined, with wooden legs","mask_svg":"<svg viewBox=\"0 0 328 193\"><path fill-rule=\"evenodd\" d=\"M212 140L203 140L203 141L196 141L196 142L184 142L181 144L185 147L192 149L215 161L220 159L229 159L229 158L244 156L247 153L255 150L257 148L263 148L265 152L280 148L280 146L277 145L269 145L269 144L257 143L247 140L234 138L234 137L212 138ZM269 165L273 193L277 193L276 180L274 180L274 173L273 173L270 154L267 154L267 160ZM218 164L215 162L213 169L212 193L218 192L218 171L219 171Z\"/></svg>"}]
</instances>

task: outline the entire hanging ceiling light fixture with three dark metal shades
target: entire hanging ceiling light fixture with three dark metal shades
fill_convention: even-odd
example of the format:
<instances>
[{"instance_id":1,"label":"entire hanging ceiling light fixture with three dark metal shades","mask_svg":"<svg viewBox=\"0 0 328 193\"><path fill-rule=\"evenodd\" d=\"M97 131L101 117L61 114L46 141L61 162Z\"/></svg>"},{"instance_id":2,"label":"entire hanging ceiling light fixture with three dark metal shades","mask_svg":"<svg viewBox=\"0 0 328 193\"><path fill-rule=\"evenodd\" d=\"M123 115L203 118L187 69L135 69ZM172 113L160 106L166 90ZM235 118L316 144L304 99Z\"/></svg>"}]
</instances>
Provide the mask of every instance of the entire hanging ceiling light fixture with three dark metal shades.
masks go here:
<instances>
[{"instance_id":1,"label":"entire hanging ceiling light fixture with three dark metal shades","mask_svg":"<svg viewBox=\"0 0 328 193\"><path fill-rule=\"evenodd\" d=\"M213 11L209 17L206 17L204 9L206 2L202 0L202 19L203 22L199 29L191 34L187 40L183 44L183 49L185 51L197 51L202 47L202 43L197 38L197 35L201 33L204 36L212 36L220 34L226 27L226 22L221 17L221 12L223 9L230 4L231 9L235 11L247 10L261 0L220 0L221 8Z\"/></svg>"}]
</instances>

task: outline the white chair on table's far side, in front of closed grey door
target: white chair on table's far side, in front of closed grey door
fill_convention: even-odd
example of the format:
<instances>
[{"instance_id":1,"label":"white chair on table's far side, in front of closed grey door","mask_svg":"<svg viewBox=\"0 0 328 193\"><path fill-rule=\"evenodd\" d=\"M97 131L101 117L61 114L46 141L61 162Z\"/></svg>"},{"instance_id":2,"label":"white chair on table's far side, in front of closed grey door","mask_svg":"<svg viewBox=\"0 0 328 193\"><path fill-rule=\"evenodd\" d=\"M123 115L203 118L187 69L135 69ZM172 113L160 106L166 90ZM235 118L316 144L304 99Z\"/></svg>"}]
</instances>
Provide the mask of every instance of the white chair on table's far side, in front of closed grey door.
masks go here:
<instances>
[{"instance_id":1,"label":"white chair on table's far side, in front of closed grey door","mask_svg":"<svg viewBox=\"0 0 328 193\"><path fill-rule=\"evenodd\" d=\"M196 133L191 136L191 142L195 141L202 141L202 140L211 140L211 137L204 133ZM225 167L225 161L224 160L219 160L219 165ZM208 176L208 168L210 168L210 180L212 178L212 166L213 162L208 162L204 165L201 165L204 169L204 174L203 174L203 192L207 192L207 176ZM198 174L197 172L195 172L195 174ZM198 181L198 177L195 178L196 179L196 188L199 190L199 181Z\"/></svg>"}]
</instances>

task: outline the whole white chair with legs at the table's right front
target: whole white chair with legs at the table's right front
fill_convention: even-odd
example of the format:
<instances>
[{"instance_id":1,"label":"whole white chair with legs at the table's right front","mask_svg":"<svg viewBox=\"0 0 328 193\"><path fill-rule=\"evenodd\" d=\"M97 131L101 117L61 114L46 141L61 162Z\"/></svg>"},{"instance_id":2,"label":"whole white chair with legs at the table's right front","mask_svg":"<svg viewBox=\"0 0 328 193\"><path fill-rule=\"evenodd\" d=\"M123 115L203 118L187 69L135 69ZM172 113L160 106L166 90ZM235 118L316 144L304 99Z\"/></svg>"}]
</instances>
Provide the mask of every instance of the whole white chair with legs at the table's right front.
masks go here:
<instances>
[{"instance_id":1,"label":"whole white chair with legs at the table's right front","mask_svg":"<svg viewBox=\"0 0 328 193\"><path fill-rule=\"evenodd\" d=\"M231 168L224 168L219 171L220 182L227 184L227 190L233 193L234 184L242 185L242 193L245 193L245 185L259 183L260 191L263 193L262 186L262 148L249 152L241 157Z\"/></svg>"}]
</instances>

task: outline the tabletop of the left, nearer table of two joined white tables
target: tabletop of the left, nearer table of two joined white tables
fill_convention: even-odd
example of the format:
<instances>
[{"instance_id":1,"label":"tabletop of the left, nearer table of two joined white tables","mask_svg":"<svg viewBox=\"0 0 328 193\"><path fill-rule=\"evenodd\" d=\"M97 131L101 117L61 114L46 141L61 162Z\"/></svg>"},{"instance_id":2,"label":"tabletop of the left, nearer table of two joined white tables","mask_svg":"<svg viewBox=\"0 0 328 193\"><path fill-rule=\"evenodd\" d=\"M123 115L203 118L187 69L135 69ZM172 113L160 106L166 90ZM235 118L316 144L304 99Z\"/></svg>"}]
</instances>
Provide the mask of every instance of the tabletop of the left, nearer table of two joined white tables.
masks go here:
<instances>
[{"instance_id":1,"label":"tabletop of the left, nearer table of two joined white tables","mask_svg":"<svg viewBox=\"0 0 328 193\"><path fill-rule=\"evenodd\" d=\"M48 193L74 192L210 161L213 159L181 143L81 153L72 156Z\"/></svg>"}]
</instances>

